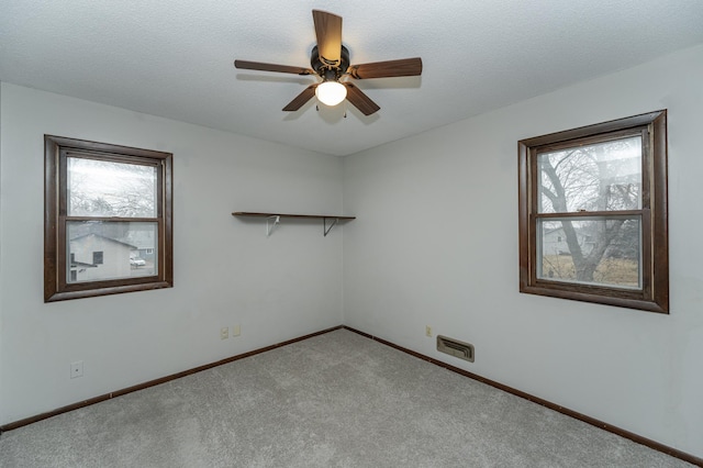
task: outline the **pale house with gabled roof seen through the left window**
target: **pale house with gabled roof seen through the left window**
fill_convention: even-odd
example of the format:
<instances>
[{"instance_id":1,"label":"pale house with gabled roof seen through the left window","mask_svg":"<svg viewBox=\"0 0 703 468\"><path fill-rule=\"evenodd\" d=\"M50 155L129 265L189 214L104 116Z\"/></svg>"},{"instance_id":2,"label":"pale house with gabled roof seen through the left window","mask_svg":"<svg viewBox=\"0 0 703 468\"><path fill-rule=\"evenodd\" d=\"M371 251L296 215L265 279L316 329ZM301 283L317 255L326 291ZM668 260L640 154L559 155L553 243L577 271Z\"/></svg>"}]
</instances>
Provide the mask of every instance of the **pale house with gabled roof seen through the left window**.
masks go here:
<instances>
[{"instance_id":1,"label":"pale house with gabled roof seen through the left window","mask_svg":"<svg viewBox=\"0 0 703 468\"><path fill-rule=\"evenodd\" d=\"M130 255L136 246L85 234L70 239L70 274L68 281L91 281L131 276Z\"/></svg>"}]
</instances>

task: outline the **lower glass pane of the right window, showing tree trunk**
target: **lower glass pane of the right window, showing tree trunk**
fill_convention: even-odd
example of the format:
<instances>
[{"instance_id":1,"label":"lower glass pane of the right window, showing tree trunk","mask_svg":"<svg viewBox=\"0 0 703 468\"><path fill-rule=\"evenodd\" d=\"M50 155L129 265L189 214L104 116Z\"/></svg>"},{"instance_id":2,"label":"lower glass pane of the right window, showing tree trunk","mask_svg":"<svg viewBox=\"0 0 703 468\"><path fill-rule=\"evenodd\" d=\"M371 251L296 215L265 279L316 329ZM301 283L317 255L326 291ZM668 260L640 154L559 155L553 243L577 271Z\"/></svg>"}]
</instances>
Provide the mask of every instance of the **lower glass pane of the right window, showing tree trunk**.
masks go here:
<instances>
[{"instance_id":1,"label":"lower glass pane of the right window, showing tree trunk","mask_svg":"<svg viewBox=\"0 0 703 468\"><path fill-rule=\"evenodd\" d=\"M641 289L639 218L539 220L539 279Z\"/></svg>"}]
</instances>

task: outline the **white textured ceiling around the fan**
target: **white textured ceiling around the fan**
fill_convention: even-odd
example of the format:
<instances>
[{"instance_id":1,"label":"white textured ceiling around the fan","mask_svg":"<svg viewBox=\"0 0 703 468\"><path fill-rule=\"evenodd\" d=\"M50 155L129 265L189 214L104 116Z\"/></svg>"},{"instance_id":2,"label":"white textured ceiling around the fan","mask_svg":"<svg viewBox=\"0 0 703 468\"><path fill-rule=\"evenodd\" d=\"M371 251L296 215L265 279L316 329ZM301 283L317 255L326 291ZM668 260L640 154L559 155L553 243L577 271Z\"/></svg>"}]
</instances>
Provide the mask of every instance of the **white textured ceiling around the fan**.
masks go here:
<instances>
[{"instance_id":1,"label":"white textured ceiling around the fan","mask_svg":"<svg viewBox=\"0 0 703 468\"><path fill-rule=\"evenodd\" d=\"M381 110L281 109L312 77L312 9L344 19L352 64L420 56L422 77L358 80ZM701 0L3 0L0 80L348 155L703 43Z\"/></svg>"}]
</instances>

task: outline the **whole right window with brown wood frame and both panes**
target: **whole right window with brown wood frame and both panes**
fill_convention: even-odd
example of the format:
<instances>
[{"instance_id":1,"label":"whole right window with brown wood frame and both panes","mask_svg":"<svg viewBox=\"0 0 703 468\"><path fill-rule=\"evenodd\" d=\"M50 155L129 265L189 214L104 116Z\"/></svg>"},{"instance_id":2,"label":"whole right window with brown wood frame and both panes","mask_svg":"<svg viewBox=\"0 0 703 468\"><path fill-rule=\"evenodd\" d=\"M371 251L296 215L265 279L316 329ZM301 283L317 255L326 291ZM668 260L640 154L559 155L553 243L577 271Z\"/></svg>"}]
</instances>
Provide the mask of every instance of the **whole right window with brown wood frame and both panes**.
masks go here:
<instances>
[{"instance_id":1,"label":"whole right window with brown wood frame and both panes","mask_svg":"<svg viewBox=\"0 0 703 468\"><path fill-rule=\"evenodd\" d=\"M518 142L520 290L669 311L667 111Z\"/></svg>"}]
</instances>

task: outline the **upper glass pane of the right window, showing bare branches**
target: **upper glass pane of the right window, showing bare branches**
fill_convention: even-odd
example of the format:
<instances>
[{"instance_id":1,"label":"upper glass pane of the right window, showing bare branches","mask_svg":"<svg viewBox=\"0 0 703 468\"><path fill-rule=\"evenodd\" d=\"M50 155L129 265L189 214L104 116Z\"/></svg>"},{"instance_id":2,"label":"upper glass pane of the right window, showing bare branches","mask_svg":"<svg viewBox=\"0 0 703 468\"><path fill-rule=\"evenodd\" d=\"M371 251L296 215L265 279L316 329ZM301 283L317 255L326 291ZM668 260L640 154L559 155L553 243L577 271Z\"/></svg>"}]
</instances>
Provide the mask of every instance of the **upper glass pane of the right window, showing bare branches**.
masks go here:
<instances>
[{"instance_id":1,"label":"upper glass pane of the right window, showing bare branches","mask_svg":"<svg viewBox=\"0 0 703 468\"><path fill-rule=\"evenodd\" d=\"M537 155L538 212L641 209L641 137Z\"/></svg>"}]
</instances>

